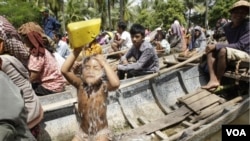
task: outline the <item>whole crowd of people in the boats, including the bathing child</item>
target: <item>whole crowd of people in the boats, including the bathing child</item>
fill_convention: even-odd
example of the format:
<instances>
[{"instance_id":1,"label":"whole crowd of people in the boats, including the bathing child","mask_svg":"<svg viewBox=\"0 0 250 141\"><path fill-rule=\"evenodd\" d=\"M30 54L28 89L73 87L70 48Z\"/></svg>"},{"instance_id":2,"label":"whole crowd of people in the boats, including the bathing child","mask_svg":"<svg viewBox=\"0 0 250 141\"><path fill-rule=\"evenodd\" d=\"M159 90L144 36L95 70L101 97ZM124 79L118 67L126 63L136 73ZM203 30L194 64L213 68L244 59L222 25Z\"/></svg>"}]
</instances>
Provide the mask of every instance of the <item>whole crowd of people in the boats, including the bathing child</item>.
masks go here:
<instances>
[{"instance_id":1,"label":"whole crowd of people in the boats, including the bathing child","mask_svg":"<svg viewBox=\"0 0 250 141\"><path fill-rule=\"evenodd\" d=\"M157 73L160 55L205 53L210 81L202 88L218 87L228 60L250 58L249 8L249 2L238 1L229 9L231 21L218 22L218 33L223 32L226 42L220 42L215 34L216 42L211 44L203 28L197 25L185 30L178 20L167 32L157 28L152 39L148 28L133 24L127 31L127 24L121 21L117 32L102 32L89 44L74 49L58 32L60 23L49 16L49 9L41 11L41 26L28 22L15 29L0 16L0 89L5 91L0 93L0 111L8 110L0 116L0 139L36 140L44 114L39 96L63 92L71 84L78 90L81 119L73 140L111 140L106 117L108 92L118 89L122 79ZM102 55L106 44L111 46L109 52L126 50L118 54L118 65L111 66ZM10 106L11 102L15 104ZM91 124L93 120L96 125Z\"/></svg>"}]
</instances>

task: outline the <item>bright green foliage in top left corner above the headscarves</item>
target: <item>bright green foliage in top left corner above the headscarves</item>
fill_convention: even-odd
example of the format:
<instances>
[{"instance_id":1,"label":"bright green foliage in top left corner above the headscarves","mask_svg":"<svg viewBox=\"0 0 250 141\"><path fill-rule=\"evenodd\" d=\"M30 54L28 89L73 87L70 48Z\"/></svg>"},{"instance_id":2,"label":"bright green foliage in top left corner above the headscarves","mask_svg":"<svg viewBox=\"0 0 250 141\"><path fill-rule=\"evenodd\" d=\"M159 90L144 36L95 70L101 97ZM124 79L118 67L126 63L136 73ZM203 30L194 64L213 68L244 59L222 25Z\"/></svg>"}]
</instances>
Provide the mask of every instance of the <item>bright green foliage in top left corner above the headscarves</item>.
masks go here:
<instances>
[{"instance_id":1,"label":"bright green foliage in top left corner above the headscarves","mask_svg":"<svg viewBox=\"0 0 250 141\"><path fill-rule=\"evenodd\" d=\"M26 22L40 23L41 15L38 8L32 3L19 0L0 0L0 13L5 16L15 28L20 27Z\"/></svg>"}]
</instances>

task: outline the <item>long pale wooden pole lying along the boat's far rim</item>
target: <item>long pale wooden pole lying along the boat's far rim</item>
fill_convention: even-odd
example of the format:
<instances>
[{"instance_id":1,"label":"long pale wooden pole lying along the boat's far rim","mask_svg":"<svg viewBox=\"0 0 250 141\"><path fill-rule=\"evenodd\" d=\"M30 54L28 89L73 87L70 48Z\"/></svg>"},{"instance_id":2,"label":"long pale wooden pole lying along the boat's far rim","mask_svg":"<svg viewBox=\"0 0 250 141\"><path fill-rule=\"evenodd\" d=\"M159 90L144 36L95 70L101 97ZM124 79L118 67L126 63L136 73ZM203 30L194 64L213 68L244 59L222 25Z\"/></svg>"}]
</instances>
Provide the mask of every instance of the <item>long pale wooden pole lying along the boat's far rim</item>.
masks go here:
<instances>
[{"instance_id":1,"label":"long pale wooden pole lying along the boat's far rim","mask_svg":"<svg viewBox=\"0 0 250 141\"><path fill-rule=\"evenodd\" d=\"M191 58L187 59L186 61L180 62L179 64L176 64L176 65L171 66L169 68L162 69L158 73L149 74L149 75L146 75L145 77L143 77L141 79L137 79L137 80L134 80L134 81L131 81L131 82L128 82L128 83L124 83L124 84L120 85L120 89L131 86L131 85L134 85L134 84L137 84L137 83L142 82L144 80L149 80L149 79L151 79L151 78L153 78L155 76L159 76L159 75L161 75L163 73L166 73L166 72L172 71L174 69L177 69L179 67L185 66L186 64L188 64L188 63L202 57L202 55L203 55L203 53L197 54L197 55L192 56Z\"/></svg>"}]
</instances>

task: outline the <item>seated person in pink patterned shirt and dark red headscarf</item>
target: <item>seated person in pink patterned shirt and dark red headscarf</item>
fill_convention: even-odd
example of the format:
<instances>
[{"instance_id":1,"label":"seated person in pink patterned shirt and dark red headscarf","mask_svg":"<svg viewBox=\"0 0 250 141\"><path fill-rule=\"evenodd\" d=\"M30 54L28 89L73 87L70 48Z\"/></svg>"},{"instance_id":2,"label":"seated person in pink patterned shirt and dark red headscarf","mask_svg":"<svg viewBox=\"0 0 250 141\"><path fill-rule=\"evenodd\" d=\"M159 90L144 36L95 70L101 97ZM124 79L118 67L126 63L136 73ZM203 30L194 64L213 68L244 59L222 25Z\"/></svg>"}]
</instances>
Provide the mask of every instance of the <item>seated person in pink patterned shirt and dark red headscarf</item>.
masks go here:
<instances>
[{"instance_id":1,"label":"seated person in pink patterned shirt and dark red headscarf","mask_svg":"<svg viewBox=\"0 0 250 141\"><path fill-rule=\"evenodd\" d=\"M27 29L29 25L23 24L20 28ZM41 34L36 31L29 29L19 31L25 46L30 50L29 79L35 93L43 96L64 91L66 81L53 55L55 48L45 45Z\"/></svg>"}]
</instances>

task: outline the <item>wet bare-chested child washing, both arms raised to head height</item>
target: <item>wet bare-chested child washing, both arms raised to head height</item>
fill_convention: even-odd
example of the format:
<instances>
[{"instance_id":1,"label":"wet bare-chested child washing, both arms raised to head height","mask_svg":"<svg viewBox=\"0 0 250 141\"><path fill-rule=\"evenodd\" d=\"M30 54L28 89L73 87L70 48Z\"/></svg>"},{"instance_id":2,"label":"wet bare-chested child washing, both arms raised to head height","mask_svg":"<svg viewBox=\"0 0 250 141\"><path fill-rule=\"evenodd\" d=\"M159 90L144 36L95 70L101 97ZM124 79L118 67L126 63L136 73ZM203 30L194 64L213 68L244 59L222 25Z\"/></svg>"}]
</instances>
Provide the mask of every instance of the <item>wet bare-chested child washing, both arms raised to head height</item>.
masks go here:
<instances>
[{"instance_id":1,"label":"wet bare-chested child washing, both arms raised to head height","mask_svg":"<svg viewBox=\"0 0 250 141\"><path fill-rule=\"evenodd\" d=\"M116 90L120 81L103 55L90 55L82 61L82 75L78 77L71 71L81 48L76 48L62 66L62 73L70 84L78 89L78 113L80 129L72 141L111 140L108 129L107 96L108 91Z\"/></svg>"}]
</instances>

